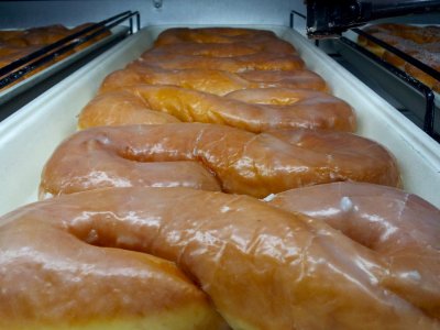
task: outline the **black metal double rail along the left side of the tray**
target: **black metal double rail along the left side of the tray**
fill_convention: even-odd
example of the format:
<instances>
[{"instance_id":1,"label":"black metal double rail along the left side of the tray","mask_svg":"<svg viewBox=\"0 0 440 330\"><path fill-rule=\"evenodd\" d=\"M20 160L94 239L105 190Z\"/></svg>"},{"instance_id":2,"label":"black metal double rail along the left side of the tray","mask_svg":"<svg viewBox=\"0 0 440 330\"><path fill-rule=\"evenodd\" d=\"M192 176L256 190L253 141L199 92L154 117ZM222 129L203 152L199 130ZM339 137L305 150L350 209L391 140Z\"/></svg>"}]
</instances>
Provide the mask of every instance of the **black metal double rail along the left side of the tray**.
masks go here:
<instances>
[{"instance_id":1,"label":"black metal double rail along the left side of the tray","mask_svg":"<svg viewBox=\"0 0 440 330\"><path fill-rule=\"evenodd\" d=\"M109 31L111 28L129 20L130 22L130 34L134 33L133 29L133 16L136 18L136 31L141 29L141 16L138 11L125 11L117 14L112 18L103 20L99 23L92 24L84 30L68 35L51 45L40 48L38 51L23 56L20 59L12 62L11 64L0 68L0 88L3 88L30 72L38 68L47 62L72 51L76 46L86 43L87 41ZM94 32L95 31L95 32ZM92 33L90 33L92 32ZM88 34L90 33L90 34ZM26 65L28 64L28 65ZM26 66L24 66L26 65Z\"/></svg>"}]
</instances>

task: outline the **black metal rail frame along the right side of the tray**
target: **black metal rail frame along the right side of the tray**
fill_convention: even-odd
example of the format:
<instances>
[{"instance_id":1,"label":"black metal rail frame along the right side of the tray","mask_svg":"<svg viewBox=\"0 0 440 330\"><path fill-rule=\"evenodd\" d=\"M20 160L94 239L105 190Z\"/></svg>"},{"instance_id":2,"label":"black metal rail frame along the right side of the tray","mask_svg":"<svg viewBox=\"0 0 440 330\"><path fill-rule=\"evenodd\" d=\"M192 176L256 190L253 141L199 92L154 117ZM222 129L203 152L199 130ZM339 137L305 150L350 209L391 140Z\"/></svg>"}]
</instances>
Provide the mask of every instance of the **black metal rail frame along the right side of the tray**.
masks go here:
<instances>
[{"instance_id":1,"label":"black metal rail frame along the right side of the tray","mask_svg":"<svg viewBox=\"0 0 440 330\"><path fill-rule=\"evenodd\" d=\"M421 63L420 61L414 58L413 56L393 47L392 45L383 42L374 37L373 35L360 30L360 29L352 29L352 31L359 35L364 36L369 41L374 42L375 44L380 45L381 47L385 48L386 51L392 52L396 56L400 57L405 62L414 65L418 69L422 70L424 73L430 75L431 77L440 80L440 73L436 69L431 68L430 66ZM345 45L355 48L358 52L362 53L363 55L367 56L370 59L374 61L375 63L383 66L393 75L397 76L399 79L404 80L405 82L409 84L413 88L420 91L425 96L426 107L425 107L425 116L424 116L424 131L432 138L436 138L435 132L435 116L436 116L436 107L435 107L435 94L431 88L426 86L425 84L420 82L413 76L408 75L407 73L396 68L395 66L391 65L389 63L383 61L381 57L376 56L372 52L365 50L364 47L358 45L356 43L352 42L351 40L342 36L340 38Z\"/></svg>"}]
</instances>

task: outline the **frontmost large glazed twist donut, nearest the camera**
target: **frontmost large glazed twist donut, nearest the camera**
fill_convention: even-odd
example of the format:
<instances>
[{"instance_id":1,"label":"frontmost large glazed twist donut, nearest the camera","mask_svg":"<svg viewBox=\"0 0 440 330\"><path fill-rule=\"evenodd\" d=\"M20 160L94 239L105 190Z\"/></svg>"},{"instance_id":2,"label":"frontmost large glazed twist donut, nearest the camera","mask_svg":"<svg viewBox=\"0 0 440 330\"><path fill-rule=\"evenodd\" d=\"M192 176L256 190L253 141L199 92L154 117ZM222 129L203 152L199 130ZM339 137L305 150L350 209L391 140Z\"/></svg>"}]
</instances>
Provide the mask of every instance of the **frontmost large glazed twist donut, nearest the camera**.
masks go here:
<instances>
[{"instance_id":1,"label":"frontmost large glazed twist donut, nearest the camera","mask_svg":"<svg viewBox=\"0 0 440 330\"><path fill-rule=\"evenodd\" d=\"M169 264L153 260L153 271L165 265L168 273L154 276L145 252L176 262L232 329L440 329L439 211L410 196L399 204L416 219L422 211L421 226L377 217L373 228L359 224L374 240L383 223L389 252L321 220L221 193L110 188L33 204L0 220L0 324L193 321L206 299ZM429 257L406 264L424 251ZM175 287L187 287L194 302L162 292ZM205 329L216 329L218 319L205 311Z\"/></svg>"}]
</instances>

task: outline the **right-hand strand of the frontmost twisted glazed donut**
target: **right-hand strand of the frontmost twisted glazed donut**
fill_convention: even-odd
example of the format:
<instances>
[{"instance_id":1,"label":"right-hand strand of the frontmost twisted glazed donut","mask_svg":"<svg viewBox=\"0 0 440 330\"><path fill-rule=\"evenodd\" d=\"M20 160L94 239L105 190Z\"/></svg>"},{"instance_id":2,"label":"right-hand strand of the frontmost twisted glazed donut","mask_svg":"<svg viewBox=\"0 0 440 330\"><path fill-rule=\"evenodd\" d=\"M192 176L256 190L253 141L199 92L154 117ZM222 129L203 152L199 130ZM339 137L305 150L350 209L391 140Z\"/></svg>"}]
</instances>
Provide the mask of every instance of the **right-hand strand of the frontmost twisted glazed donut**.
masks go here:
<instances>
[{"instance_id":1,"label":"right-hand strand of the frontmost twisted glazed donut","mask_svg":"<svg viewBox=\"0 0 440 330\"><path fill-rule=\"evenodd\" d=\"M430 317L440 317L440 210L399 189L334 183L272 196L270 205L323 220L380 253L399 276L386 286Z\"/></svg>"}]
</instances>

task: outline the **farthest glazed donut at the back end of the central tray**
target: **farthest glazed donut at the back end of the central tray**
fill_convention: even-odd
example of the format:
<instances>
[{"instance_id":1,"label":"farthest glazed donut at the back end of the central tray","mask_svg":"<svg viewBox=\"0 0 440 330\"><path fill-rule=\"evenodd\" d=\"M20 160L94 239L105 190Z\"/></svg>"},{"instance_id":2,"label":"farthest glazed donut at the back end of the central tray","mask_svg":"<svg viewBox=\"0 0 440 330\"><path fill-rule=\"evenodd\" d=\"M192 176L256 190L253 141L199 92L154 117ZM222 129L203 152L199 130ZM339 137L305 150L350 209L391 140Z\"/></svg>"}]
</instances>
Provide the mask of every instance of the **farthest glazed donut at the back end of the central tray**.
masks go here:
<instances>
[{"instance_id":1,"label":"farthest glazed donut at the back end of the central tray","mask_svg":"<svg viewBox=\"0 0 440 330\"><path fill-rule=\"evenodd\" d=\"M237 43L262 42L277 40L275 33L266 30L240 29L240 28L174 28L163 31L154 42L154 46L163 46L175 43Z\"/></svg>"}]
</instances>

